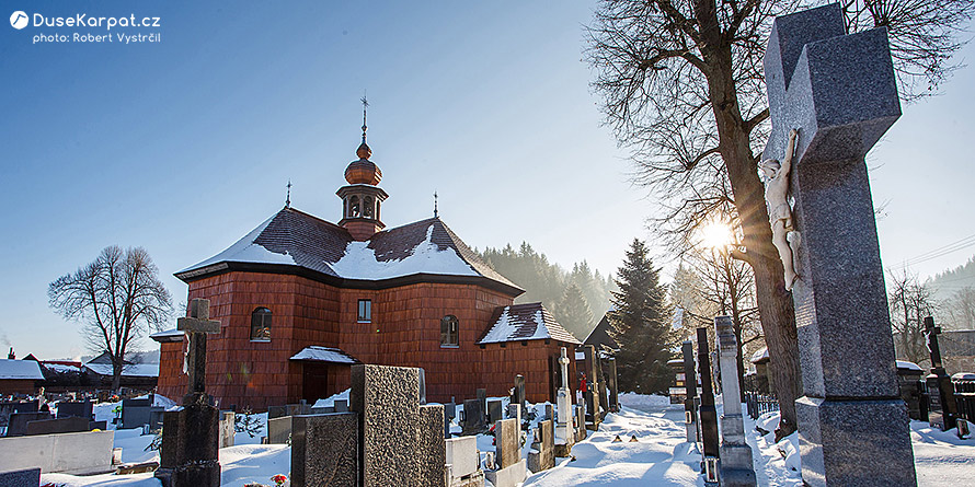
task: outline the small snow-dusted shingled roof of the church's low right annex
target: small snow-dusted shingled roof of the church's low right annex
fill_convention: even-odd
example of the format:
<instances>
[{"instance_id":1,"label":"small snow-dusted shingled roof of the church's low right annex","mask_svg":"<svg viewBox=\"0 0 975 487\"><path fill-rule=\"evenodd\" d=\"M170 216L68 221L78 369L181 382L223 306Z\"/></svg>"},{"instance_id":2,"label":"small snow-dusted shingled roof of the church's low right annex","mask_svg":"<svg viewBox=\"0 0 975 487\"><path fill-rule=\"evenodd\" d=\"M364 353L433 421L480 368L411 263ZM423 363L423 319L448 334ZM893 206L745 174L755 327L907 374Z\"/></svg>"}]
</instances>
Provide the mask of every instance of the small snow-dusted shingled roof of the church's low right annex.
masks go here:
<instances>
[{"instance_id":1,"label":"small snow-dusted shingled roof of the church's low right annex","mask_svg":"<svg viewBox=\"0 0 975 487\"><path fill-rule=\"evenodd\" d=\"M514 304L494 311L494 325L478 344L521 341L551 338L569 344L580 344L541 303Z\"/></svg>"}]
</instances>

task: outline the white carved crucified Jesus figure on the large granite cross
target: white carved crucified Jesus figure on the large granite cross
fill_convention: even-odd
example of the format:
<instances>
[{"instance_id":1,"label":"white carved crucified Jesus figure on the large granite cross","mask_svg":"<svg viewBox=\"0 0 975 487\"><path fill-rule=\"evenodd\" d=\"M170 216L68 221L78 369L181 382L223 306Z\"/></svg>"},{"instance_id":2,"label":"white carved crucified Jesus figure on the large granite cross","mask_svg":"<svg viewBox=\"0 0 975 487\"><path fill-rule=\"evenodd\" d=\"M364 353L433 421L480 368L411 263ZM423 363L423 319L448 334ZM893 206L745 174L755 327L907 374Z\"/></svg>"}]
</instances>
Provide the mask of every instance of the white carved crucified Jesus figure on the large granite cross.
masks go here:
<instances>
[{"instance_id":1,"label":"white carved crucified Jesus figure on the large granite cross","mask_svg":"<svg viewBox=\"0 0 975 487\"><path fill-rule=\"evenodd\" d=\"M779 251L782 267L785 270L785 289L791 291L799 275L795 273L795 250L799 232L792 223L792 208L789 206L789 172L792 170L792 156L795 153L795 138L799 130L789 132L789 144L785 158L781 163L775 159L762 161L758 166L768 182L765 185L765 200L769 208L769 223L772 227L772 244Z\"/></svg>"}]
</instances>

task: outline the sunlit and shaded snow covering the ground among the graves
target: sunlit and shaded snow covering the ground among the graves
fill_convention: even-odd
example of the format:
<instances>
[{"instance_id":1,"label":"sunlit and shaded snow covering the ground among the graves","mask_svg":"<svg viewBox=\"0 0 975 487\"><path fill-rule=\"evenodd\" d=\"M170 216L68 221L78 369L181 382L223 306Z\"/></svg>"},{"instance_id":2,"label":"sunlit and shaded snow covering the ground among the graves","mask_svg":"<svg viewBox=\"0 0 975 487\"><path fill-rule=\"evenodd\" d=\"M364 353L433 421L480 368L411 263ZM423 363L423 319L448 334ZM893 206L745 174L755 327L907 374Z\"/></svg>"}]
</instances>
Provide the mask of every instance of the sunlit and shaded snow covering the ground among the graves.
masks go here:
<instances>
[{"instance_id":1,"label":"sunlit and shaded snow covering the ground among the graves","mask_svg":"<svg viewBox=\"0 0 975 487\"><path fill-rule=\"evenodd\" d=\"M347 398L347 392L322 399L320 405L331 404L336 397ZM506 398L503 401L507 403ZM524 485L702 486L703 479L698 473L700 452L697 445L685 441L684 407L670 405L666 397L635 394L620 395L620 403L623 405L620 413L607 415L599 431L590 431L588 438L572 449L575 460L557 459L554 468L530 475ZM97 405L95 415L99 419L111 420L114 416L113 407L112 404ZM534 405L532 408L537 413L532 421L535 426L544 415L544 404ZM458 417L459 409L460 407ZM104 417L106 415L107 418ZM265 424L266 415L255 417L261 425ZM772 431L777 422L778 413L762 415L757 421L745 418L758 485L800 487L802 478L798 434L775 443L775 433L761 436L755 428L758 426ZM932 429L920 421L911 421L910 429L919 485L954 487L961 485L961 479L975 476L975 438L961 440L952 432ZM460 431L456 422L452 430ZM152 436L140 433L141 430L116 430L115 447L123 448L123 461L141 462L158 456L156 452L144 451ZM273 475L289 473L290 448L284 444L256 444L263 434L264 432L250 438L246 433L238 433L234 447L220 450L222 486L241 487L250 482L272 485ZM622 442L612 442L617 434ZM630 441L633 436L638 441ZM487 434L478 437L482 462L483 452L494 451L493 440ZM528 455L530 444L529 433L521 449L523 456ZM64 487L159 486L151 473L89 477L45 474L42 482Z\"/></svg>"}]
</instances>

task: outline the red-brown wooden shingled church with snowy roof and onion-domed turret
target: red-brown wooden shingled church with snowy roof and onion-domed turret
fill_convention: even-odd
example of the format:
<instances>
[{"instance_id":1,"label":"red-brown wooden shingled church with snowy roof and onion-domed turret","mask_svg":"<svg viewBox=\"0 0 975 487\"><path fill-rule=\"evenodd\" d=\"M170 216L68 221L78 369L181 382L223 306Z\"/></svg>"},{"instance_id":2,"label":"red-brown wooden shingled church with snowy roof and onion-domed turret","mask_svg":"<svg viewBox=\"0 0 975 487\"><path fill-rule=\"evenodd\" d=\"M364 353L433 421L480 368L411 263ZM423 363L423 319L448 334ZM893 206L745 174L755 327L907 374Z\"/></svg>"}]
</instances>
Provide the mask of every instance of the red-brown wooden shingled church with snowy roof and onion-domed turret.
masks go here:
<instances>
[{"instance_id":1,"label":"red-brown wooden shingled church with snowy roof and onion-domed turret","mask_svg":"<svg viewBox=\"0 0 975 487\"><path fill-rule=\"evenodd\" d=\"M210 300L221 333L207 338L207 392L220 407L313 403L349 386L354 363L418 367L431 402L507 395L554 403L566 347L580 341L541 303L494 271L437 218L386 229L382 173L363 142L339 188L332 223L286 205L226 251L176 273L188 299ZM160 343L158 392L186 393L186 341ZM570 380L574 387L575 380ZM574 394L574 392L573 392Z\"/></svg>"}]
</instances>

